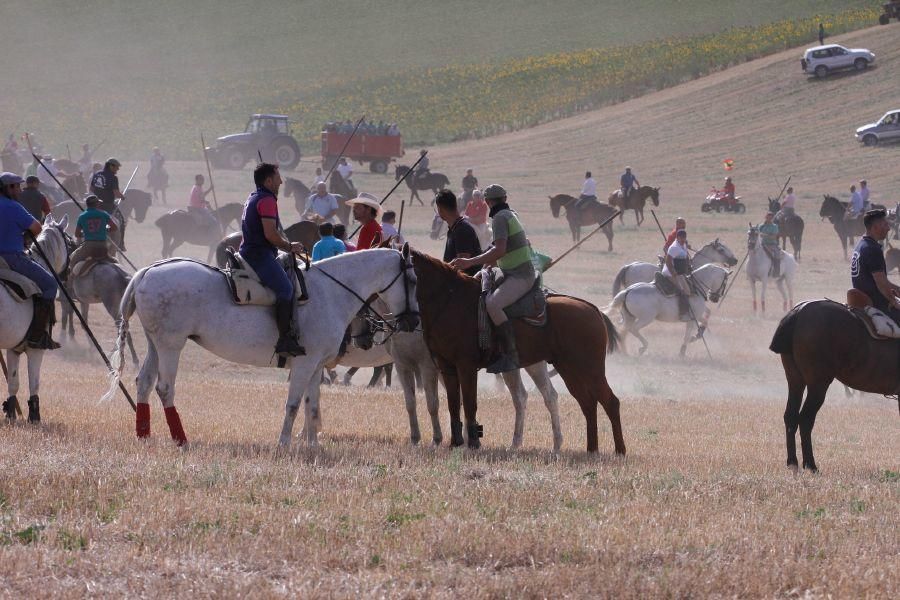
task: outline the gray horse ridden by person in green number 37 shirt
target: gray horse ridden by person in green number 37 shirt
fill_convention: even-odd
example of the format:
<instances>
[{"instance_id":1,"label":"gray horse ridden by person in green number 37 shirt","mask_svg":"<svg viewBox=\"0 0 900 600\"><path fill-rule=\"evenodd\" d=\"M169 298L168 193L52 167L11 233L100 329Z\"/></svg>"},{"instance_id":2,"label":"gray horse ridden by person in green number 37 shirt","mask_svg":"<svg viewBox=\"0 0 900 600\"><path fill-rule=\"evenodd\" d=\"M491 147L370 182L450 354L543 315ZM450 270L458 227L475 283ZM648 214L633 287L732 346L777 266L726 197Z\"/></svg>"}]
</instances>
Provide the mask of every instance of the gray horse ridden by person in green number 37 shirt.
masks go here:
<instances>
[{"instance_id":1,"label":"gray horse ridden by person in green number 37 shirt","mask_svg":"<svg viewBox=\"0 0 900 600\"><path fill-rule=\"evenodd\" d=\"M66 286L72 293L72 298L78 300L81 304L81 314L84 320L88 320L88 311L91 304L103 304L106 312L113 318L116 327L119 326L119 305L122 303L122 295L128 282L131 281L131 275L119 266L118 263L104 262L95 265L87 274L74 277L71 274L66 282ZM71 339L75 339L75 320L72 318L74 311L72 305L69 304L65 297L62 298L62 321L61 327L63 334L68 333ZM134 350L134 343L131 341L131 333L126 337L128 349L131 351L131 360L135 365L138 364L137 352Z\"/></svg>"}]
</instances>

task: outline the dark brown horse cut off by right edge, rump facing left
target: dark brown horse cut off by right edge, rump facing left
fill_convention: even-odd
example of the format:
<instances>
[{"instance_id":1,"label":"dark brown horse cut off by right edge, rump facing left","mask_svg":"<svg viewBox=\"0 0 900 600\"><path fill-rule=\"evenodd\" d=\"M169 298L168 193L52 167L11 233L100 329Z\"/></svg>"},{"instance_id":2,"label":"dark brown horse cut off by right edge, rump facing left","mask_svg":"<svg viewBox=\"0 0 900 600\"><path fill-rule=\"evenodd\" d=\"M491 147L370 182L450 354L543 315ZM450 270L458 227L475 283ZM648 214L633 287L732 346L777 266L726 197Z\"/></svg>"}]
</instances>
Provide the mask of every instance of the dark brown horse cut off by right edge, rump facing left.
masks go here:
<instances>
[{"instance_id":1,"label":"dark brown horse cut off by right edge, rump facing left","mask_svg":"<svg viewBox=\"0 0 900 600\"><path fill-rule=\"evenodd\" d=\"M797 467L799 428L803 468L817 470L812 430L832 381L873 394L900 392L900 342L872 339L846 306L831 300L797 305L781 319L769 349L781 355L787 378L784 427L789 467Z\"/></svg>"}]
</instances>

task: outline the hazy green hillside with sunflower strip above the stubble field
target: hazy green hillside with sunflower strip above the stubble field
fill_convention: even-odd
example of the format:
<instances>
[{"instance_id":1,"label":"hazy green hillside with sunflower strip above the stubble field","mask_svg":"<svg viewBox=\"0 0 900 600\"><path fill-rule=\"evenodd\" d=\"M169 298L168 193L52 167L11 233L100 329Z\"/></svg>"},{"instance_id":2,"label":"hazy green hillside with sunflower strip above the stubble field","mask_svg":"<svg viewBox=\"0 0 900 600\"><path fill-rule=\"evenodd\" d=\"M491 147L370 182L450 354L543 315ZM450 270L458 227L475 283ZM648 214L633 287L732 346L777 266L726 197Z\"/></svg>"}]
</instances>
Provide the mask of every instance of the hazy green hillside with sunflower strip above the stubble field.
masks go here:
<instances>
[{"instance_id":1,"label":"hazy green hillside with sunflower strip above the stubble field","mask_svg":"<svg viewBox=\"0 0 900 600\"><path fill-rule=\"evenodd\" d=\"M447 141L804 43L817 15L835 32L868 25L871 10L847 11L876 4L12 0L2 31L17 85L0 110L5 128L57 152L109 138L123 156L157 144L195 158L200 129L231 132L269 110L291 114L307 148L322 121L362 112L398 121L410 142ZM756 28L800 17L783 39Z\"/></svg>"}]
</instances>

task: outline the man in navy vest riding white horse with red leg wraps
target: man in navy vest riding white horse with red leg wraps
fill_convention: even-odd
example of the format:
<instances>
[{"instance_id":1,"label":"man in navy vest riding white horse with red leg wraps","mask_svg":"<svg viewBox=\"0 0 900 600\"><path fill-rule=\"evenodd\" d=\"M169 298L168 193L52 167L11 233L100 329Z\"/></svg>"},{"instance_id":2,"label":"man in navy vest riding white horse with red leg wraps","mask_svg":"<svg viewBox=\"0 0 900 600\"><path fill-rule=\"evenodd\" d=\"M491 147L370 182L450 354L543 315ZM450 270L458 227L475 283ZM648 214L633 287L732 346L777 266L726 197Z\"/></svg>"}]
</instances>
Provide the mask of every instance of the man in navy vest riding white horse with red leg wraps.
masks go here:
<instances>
[{"instance_id":1,"label":"man in navy vest riding white horse with red leg wraps","mask_svg":"<svg viewBox=\"0 0 900 600\"><path fill-rule=\"evenodd\" d=\"M275 292L275 320L278 323L278 342L275 353L279 356L303 356L306 350L297 342L292 328L294 314L294 284L284 268L275 260L278 250L299 254L303 246L291 242L281 231L278 218L278 190L281 174L278 166L260 163L253 171L256 191L250 194L244 204L241 216L240 254L246 260L260 281Z\"/></svg>"}]
</instances>

